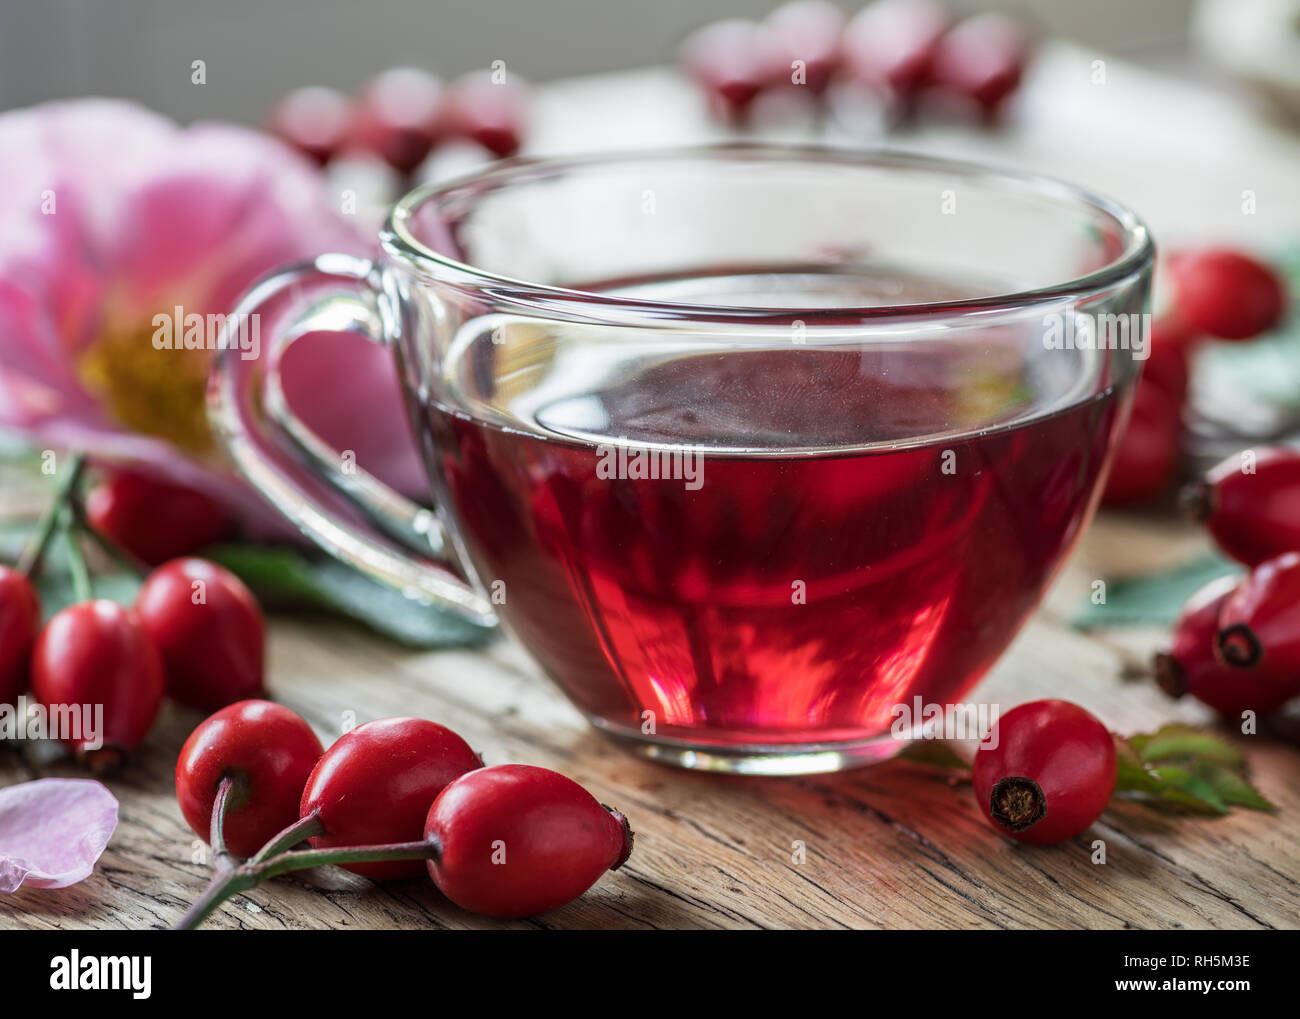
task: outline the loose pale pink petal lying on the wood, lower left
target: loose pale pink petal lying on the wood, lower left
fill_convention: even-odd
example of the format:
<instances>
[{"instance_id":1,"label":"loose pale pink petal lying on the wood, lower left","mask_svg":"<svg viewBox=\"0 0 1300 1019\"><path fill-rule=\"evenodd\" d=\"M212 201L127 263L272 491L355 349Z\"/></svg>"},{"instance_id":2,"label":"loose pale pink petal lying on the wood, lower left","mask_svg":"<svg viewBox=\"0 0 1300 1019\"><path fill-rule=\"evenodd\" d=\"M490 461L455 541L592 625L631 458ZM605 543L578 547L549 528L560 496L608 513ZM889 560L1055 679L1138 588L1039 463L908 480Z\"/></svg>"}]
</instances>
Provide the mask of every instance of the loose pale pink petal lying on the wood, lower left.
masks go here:
<instances>
[{"instance_id":1,"label":"loose pale pink petal lying on the wood, lower left","mask_svg":"<svg viewBox=\"0 0 1300 1019\"><path fill-rule=\"evenodd\" d=\"M90 779L0 789L0 892L65 888L90 877L117 828L117 798Z\"/></svg>"}]
</instances>

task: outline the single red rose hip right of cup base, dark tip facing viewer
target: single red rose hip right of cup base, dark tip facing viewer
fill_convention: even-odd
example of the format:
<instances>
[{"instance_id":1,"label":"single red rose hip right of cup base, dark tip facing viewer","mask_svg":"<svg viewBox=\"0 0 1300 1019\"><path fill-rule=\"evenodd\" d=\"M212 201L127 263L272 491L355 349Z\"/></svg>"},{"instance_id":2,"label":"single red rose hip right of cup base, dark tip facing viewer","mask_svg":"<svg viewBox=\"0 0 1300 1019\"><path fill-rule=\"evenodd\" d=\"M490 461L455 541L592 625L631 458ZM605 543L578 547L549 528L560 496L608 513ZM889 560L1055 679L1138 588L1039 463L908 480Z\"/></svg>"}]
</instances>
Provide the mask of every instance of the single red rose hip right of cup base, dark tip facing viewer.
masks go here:
<instances>
[{"instance_id":1,"label":"single red rose hip right of cup base, dark tip facing viewer","mask_svg":"<svg viewBox=\"0 0 1300 1019\"><path fill-rule=\"evenodd\" d=\"M1115 789L1115 742L1069 701L1006 712L975 753L971 777L984 816L1018 842L1053 845L1092 824Z\"/></svg>"}]
</instances>

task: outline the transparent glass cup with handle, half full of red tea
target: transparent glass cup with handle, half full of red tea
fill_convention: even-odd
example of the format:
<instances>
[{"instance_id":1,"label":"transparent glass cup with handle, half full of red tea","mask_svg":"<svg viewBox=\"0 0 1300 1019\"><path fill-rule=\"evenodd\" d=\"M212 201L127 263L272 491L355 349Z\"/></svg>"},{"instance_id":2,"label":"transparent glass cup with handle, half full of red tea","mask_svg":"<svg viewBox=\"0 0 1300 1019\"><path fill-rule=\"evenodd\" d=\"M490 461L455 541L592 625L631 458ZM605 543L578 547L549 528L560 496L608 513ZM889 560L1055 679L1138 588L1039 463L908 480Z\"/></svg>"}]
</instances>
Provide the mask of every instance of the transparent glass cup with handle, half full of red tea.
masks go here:
<instances>
[{"instance_id":1,"label":"transparent glass cup with handle, half full of red tea","mask_svg":"<svg viewBox=\"0 0 1300 1019\"><path fill-rule=\"evenodd\" d=\"M1131 212L896 153L498 164L381 248L244 298L266 354L209 391L233 461L601 730L719 771L878 760L959 703L1095 508L1149 337ZM281 357L322 330L391 350L432 510L292 415Z\"/></svg>"}]
</instances>

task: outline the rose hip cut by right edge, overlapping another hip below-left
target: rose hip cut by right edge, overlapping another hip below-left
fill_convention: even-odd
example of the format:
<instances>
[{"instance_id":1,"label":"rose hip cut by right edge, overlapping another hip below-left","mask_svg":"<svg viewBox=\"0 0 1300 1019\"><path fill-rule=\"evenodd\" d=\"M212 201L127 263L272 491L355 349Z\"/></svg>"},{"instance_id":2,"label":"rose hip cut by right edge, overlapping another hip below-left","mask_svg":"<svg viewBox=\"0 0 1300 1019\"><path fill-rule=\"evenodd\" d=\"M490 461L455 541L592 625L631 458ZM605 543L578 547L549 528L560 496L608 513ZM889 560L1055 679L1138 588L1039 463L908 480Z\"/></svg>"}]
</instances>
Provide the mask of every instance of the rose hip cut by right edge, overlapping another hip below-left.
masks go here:
<instances>
[{"instance_id":1,"label":"rose hip cut by right edge, overlapping another hip below-left","mask_svg":"<svg viewBox=\"0 0 1300 1019\"><path fill-rule=\"evenodd\" d=\"M1300 680L1300 552L1265 559L1219 611L1216 638L1228 665Z\"/></svg>"}]
</instances>

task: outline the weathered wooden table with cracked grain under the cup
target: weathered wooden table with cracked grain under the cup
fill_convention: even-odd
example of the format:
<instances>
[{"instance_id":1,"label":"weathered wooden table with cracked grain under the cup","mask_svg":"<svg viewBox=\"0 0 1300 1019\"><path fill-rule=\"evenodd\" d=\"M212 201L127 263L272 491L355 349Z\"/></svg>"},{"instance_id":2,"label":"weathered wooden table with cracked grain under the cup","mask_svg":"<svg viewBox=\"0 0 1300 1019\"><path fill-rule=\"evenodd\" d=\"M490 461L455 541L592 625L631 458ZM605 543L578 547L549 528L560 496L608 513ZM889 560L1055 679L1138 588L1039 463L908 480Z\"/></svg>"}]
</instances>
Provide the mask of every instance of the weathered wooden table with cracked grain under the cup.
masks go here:
<instances>
[{"instance_id":1,"label":"weathered wooden table with cracked grain under the cup","mask_svg":"<svg viewBox=\"0 0 1300 1019\"><path fill-rule=\"evenodd\" d=\"M1176 135L1184 146L1200 144L1196 139L1208 144L1217 136L1216 110L1226 116L1222 100L1197 92L1192 101L1180 86L1119 65L1112 65L1109 92L1087 92L1088 66L1089 55L1054 48L1027 90L1026 120L1006 136L967 133L953 140L940 130L898 144L1001 157L1102 186L1136 203L1157 233L1191 203L1222 227L1221 234L1235 227L1256 242L1261 230L1300 234L1296 164L1284 172L1296 152L1294 139L1238 126L1231 165L1221 157L1200 174L1188 174L1184 165L1166 185L1160 168L1180 155L1161 143L1162 155L1152 166L1124 148L1124 139L1158 129L1161 138ZM1141 87L1134 87L1135 81ZM644 117L628 117L637 107L627 104L637 96L658 103L640 107ZM1141 108L1141 100L1150 103ZM598 121L610 126L602 134L606 144L620 143L620 130L627 140L636 135L642 143L707 134L702 122L680 110L666 116L673 103L694 99L659 71L567 83L543 97L538 131L549 143L541 147L577 147L580 136L589 140L584 125ZM1110 114L1097 104L1123 110L1123 121L1108 121ZM620 110L621 118L615 117ZM1192 126L1188 118L1200 127L1179 134L1178 123ZM1080 135L1071 123L1089 121L1105 121L1113 129L1108 138L1119 139L1109 157L1097 147L1080 147L1080 138L1097 135ZM1067 164L1078 172L1070 173ZM1234 212L1236 191L1247 186L1275 203L1266 224ZM1210 196L1217 196L1213 204ZM1191 225L1184 226L1191 233ZM1126 732L1167 720L1208 723L1209 715L1195 704L1175 704L1150 682L1126 678L1164 639L1160 630L1083 634L1065 623L1093 578L1179 561L1201 543L1200 535L1169 519L1102 516L978 697L1004 710L1036 697L1067 697ZM506 641L484 651L413 654L350 625L278 617L270 634L270 677L276 697L324 737L354 720L421 715L463 733L489 763L556 768L624 810L637 831L629 864L578 902L515 924L520 927L1300 924L1300 753L1265 737L1239 742L1260 789L1280 807L1277 815L1236 811L1213 820L1179 819L1124 805L1108 811L1086 837L1035 850L1002 840L978 814L968 786L950 785L945 773L920 764L896 760L836 776L740 779L640 760L594 733ZM166 708L134 766L112 784L122 821L95 875L64 890L0 898L0 925L164 927L181 915L208 877L195 862L203 847L181 820L170 781L181 742L198 720L196 714ZM0 784L38 773L77 772L66 763L32 768L17 755L0 754ZM1093 838L1106 844L1104 866L1091 862ZM806 846L800 863L796 842ZM240 896L209 925L498 924L448 906L428 881L374 885L328 871Z\"/></svg>"}]
</instances>

